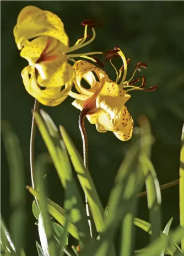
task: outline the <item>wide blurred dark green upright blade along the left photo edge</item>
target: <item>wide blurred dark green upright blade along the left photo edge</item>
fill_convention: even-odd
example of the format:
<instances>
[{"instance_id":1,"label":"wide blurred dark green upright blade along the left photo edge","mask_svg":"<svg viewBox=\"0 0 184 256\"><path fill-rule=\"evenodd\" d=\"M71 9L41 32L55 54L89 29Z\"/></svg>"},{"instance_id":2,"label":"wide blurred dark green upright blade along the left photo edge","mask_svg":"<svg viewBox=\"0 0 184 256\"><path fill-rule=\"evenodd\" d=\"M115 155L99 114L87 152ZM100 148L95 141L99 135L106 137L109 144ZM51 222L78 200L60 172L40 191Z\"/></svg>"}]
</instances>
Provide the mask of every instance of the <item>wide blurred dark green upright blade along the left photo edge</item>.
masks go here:
<instances>
[{"instance_id":1,"label":"wide blurred dark green upright blade along the left photo edge","mask_svg":"<svg viewBox=\"0 0 184 256\"><path fill-rule=\"evenodd\" d=\"M17 135L6 122L1 122L2 138L6 150L9 177L10 177L10 207L13 209L10 216L10 233L17 253L20 254L25 238L25 170L23 156ZM19 233L17 234L17 231Z\"/></svg>"}]
</instances>

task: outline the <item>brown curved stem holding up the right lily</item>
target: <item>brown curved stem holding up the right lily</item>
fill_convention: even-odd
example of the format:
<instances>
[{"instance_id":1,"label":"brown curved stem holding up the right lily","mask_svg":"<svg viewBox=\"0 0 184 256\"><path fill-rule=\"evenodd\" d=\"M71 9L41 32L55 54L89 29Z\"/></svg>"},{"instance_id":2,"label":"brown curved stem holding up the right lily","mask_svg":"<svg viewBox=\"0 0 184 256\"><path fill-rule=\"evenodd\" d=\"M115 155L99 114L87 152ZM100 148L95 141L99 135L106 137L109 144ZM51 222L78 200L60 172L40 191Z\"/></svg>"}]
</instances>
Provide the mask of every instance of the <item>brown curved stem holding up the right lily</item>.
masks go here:
<instances>
[{"instance_id":1,"label":"brown curved stem holding up the right lily","mask_svg":"<svg viewBox=\"0 0 184 256\"><path fill-rule=\"evenodd\" d=\"M88 162L88 138L87 138L87 134L85 131L85 126L84 126L84 120L85 120L85 116L86 116L86 110L83 109L79 115L79 129L80 129L80 133L82 136L82 140L83 140L83 158L84 158L84 166L86 169L88 169L89 167L89 162ZM86 207L86 214L88 216L88 223L89 223L89 229L90 229L90 234L91 237L96 237L96 228L95 228L95 224L94 224L94 220L93 217L91 216L91 211L89 208L89 204L88 204L88 198L85 194L85 207Z\"/></svg>"}]
</instances>

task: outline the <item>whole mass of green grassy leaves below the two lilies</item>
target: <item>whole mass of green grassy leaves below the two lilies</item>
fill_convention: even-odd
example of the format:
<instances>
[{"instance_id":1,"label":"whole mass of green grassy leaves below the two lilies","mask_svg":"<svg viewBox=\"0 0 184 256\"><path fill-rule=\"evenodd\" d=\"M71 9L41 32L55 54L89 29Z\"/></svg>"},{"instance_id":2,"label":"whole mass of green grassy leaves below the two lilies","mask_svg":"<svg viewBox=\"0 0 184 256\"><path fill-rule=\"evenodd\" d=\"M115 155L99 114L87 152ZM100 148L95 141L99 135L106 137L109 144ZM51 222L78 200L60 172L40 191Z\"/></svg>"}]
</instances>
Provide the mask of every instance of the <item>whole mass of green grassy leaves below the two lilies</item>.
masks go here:
<instances>
[{"instance_id":1,"label":"whole mass of green grassy leaves below the two lilies","mask_svg":"<svg viewBox=\"0 0 184 256\"><path fill-rule=\"evenodd\" d=\"M170 231L171 218L165 226L164 231L161 231L161 195L158 178L150 161L153 137L150 134L147 119L140 119L140 133L134 143L132 143L131 148L129 148L125 159L118 169L115 184L111 190L104 214L89 170L85 169L82 159L66 130L60 127L61 136L50 116L42 110L40 113L35 114L36 123L61 180L65 191L65 198L63 208L47 198L48 189L46 186L47 178L45 179L45 169L48 158L46 154L41 154L35 164L37 190L31 186L27 186L35 198L32 209L36 220L38 220L37 227L40 237L40 243L36 242L38 255L164 256L165 253L174 256L182 255L183 251L178 246L184 238L182 216L181 226ZM12 129L5 122L3 122L2 128L3 139L7 148L10 175L15 175L15 173L17 175L23 175L23 161L17 136L15 136ZM15 151L17 154L16 157L14 156ZM72 172L68 154L75 172ZM182 157L181 153L181 162ZM14 174L12 174L13 169ZM24 184L23 177L20 180L15 178L14 183L11 183L11 190L14 193L17 190L23 193L21 194L20 191L19 193L17 192L19 207L21 204L24 205L25 189L22 187ZM20 184L20 181L23 184ZM147 201L150 223L137 218L139 207L138 194L142 190L144 183L148 193ZM79 184L88 197L91 214L94 218L96 230L98 231L97 237L90 237L84 207L84 195L79 188ZM183 196L182 193L183 191L181 189L181 198ZM180 207L183 207L183 202L181 202ZM17 211L15 208L14 214ZM22 208L18 212L20 216L24 216ZM22 238L25 231L24 218L21 222L19 219L20 216L17 218L14 217L16 223L14 223L15 220L13 218L13 228L10 229L10 232L14 235L13 242L1 218L1 255L25 255L23 252L24 240ZM135 250L136 226L150 235L148 246L139 250ZM21 231L21 233L17 232L17 230ZM120 249L117 249L114 243L114 238L118 230L121 230ZM16 237L15 234L19 237ZM77 248L73 246L73 250L71 250L68 242L71 236L76 239L79 245Z\"/></svg>"}]
</instances>

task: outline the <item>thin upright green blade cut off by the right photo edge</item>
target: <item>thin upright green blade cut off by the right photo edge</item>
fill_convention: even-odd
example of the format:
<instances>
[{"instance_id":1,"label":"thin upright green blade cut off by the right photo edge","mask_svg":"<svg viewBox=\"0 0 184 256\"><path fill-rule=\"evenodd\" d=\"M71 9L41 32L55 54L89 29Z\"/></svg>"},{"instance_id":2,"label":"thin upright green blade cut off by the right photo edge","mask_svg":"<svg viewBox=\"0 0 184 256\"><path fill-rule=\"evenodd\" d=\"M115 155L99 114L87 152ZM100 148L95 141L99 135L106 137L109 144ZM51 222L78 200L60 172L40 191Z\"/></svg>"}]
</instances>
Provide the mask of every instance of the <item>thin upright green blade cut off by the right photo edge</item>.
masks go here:
<instances>
[{"instance_id":1,"label":"thin upright green blade cut off by the right photo edge","mask_svg":"<svg viewBox=\"0 0 184 256\"><path fill-rule=\"evenodd\" d=\"M184 227L184 125L182 129L180 153L180 226ZM184 253L184 237L181 240L181 249Z\"/></svg>"}]
</instances>

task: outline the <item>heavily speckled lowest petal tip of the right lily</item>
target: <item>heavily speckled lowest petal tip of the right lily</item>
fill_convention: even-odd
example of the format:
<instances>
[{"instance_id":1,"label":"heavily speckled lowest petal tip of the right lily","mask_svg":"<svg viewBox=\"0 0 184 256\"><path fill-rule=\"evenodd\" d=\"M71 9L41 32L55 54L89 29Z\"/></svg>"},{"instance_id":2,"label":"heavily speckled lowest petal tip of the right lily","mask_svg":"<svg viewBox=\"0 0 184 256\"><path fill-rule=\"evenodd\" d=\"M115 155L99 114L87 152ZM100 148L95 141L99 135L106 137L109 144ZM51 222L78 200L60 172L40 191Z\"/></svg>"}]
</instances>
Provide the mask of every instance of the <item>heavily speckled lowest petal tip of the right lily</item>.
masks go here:
<instances>
[{"instance_id":1,"label":"heavily speckled lowest petal tip of the right lily","mask_svg":"<svg viewBox=\"0 0 184 256\"><path fill-rule=\"evenodd\" d=\"M133 132L133 119L125 106L125 110L122 115L121 123L117 127L117 130L113 133L121 141L127 141L132 137L132 132Z\"/></svg>"}]
</instances>

